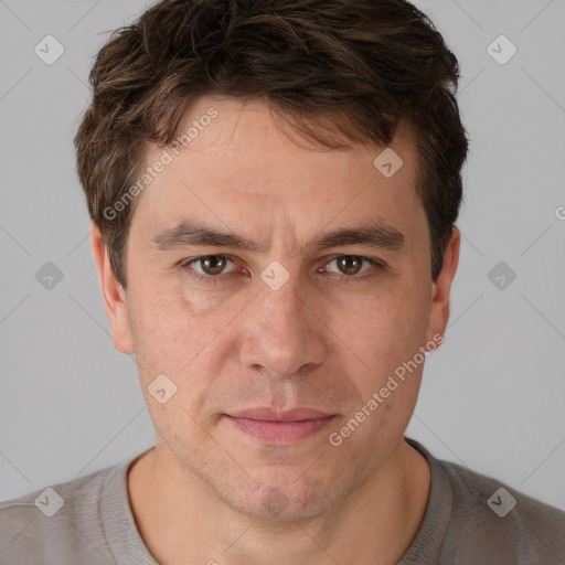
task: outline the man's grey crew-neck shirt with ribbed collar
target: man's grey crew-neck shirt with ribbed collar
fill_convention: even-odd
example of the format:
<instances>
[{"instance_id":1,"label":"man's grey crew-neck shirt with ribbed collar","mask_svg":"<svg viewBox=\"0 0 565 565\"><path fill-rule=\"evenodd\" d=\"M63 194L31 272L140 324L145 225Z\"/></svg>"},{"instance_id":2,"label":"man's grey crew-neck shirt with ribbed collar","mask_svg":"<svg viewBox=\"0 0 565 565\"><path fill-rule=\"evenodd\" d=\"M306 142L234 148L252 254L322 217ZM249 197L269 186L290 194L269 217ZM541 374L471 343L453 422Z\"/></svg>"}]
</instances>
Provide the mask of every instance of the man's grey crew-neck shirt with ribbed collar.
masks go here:
<instances>
[{"instance_id":1,"label":"man's grey crew-neck shirt with ribbed collar","mask_svg":"<svg viewBox=\"0 0 565 565\"><path fill-rule=\"evenodd\" d=\"M397 565L565 565L565 512L405 439L426 457L431 490ZM129 505L134 460L0 503L0 565L158 565Z\"/></svg>"}]
</instances>

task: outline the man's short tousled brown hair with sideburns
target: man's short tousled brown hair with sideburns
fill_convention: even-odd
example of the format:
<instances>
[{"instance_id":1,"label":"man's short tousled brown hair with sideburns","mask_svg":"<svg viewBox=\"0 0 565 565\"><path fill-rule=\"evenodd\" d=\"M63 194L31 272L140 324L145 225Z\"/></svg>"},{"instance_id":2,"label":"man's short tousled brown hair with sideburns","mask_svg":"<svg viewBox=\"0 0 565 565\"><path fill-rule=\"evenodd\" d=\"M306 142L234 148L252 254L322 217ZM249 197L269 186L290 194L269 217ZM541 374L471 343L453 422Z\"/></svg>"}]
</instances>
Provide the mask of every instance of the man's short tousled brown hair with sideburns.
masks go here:
<instances>
[{"instance_id":1,"label":"man's short tousled brown hair with sideburns","mask_svg":"<svg viewBox=\"0 0 565 565\"><path fill-rule=\"evenodd\" d=\"M111 33L89 75L93 100L75 137L90 218L126 288L135 202L108 218L143 168L147 142L177 137L204 94L258 99L333 149L308 120L350 141L414 134L417 192L426 212L431 278L441 270L462 200L468 139L455 98L456 56L406 0L163 0Z\"/></svg>"}]
</instances>

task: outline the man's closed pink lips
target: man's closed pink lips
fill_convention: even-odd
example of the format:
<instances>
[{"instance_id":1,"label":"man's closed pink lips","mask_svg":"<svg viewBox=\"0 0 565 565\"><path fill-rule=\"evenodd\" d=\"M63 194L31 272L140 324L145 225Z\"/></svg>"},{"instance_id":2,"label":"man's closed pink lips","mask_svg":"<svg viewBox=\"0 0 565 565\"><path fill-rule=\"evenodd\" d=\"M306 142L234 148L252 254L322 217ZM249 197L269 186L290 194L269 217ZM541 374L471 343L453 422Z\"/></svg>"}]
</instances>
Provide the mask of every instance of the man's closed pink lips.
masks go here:
<instances>
[{"instance_id":1,"label":"man's closed pink lips","mask_svg":"<svg viewBox=\"0 0 565 565\"><path fill-rule=\"evenodd\" d=\"M338 415L313 408L277 411L259 407L225 416L246 435L269 444L294 444L319 433Z\"/></svg>"}]
</instances>

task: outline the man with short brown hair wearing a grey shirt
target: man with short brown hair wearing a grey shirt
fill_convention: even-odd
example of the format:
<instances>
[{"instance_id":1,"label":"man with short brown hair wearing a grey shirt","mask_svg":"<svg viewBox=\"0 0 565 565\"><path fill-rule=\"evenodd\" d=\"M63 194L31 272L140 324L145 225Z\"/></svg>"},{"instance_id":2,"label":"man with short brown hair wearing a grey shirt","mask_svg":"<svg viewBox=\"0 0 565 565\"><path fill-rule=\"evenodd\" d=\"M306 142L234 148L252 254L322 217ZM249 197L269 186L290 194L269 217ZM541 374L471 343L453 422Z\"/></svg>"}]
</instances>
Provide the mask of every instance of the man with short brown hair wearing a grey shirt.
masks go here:
<instances>
[{"instance_id":1,"label":"man with short brown hair wearing a grey shirt","mask_svg":"<svg viewBox=\"0 0 565 565\"><path fill-rule=\"evenodd\" d=\"M157 444L3 503L0 563L565 563L565 513L404 437L459 257L457 78L405 0L163 1L110 39L78 173Z\"/></svg>"}]
</instances>

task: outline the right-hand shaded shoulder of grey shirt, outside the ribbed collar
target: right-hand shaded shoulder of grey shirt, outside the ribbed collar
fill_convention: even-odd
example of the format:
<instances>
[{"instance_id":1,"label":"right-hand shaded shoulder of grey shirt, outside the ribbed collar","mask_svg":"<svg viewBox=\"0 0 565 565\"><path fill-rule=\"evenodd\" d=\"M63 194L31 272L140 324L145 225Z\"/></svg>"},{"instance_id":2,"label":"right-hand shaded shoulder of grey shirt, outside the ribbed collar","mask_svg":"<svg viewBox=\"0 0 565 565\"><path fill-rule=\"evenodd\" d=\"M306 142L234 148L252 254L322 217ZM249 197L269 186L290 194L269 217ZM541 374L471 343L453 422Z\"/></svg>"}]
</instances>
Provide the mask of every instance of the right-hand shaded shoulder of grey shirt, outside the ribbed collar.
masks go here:
<instances>
[{"instance_id":1,"label":"right-hand shaded shoulder of grey shirt, outside the ribbed collar","mask_svg":"<svg viewBox=\"0 0 565 565\"><path fill-rule=\"evenodd\" d=\"M456 563L460 554L490 555L498 563L565 564L565 512L462 466L438 463L452 491L445 545Z\"/></svg>"}]
</instances>

